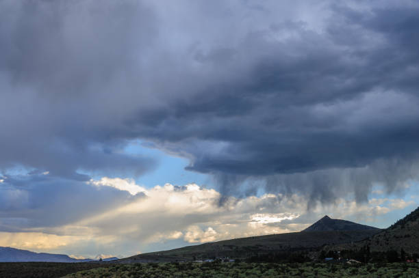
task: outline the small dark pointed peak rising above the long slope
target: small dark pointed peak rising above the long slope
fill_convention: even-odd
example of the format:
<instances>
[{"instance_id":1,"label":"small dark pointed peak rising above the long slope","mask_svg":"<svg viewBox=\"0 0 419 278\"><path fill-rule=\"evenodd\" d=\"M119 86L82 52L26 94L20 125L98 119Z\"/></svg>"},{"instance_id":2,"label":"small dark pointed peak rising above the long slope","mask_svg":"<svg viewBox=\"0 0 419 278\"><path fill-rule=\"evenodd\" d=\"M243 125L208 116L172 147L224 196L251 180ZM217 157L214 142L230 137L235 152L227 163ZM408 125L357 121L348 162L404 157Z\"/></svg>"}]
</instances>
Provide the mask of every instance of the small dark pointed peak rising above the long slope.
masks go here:
<instances>
[{"instance_id":1,"label":"small dark pointed peak rising above the long slope","mask_svg":"<svg viewBox=\"0 0 419 278\"><path fill-rule=\"evenodd\" d=\"M355 222L346 221L342 219L331 219L327 215L314 223L313 225L307 227L307 229L302 232L312 232L312 231L353 231L353 230L379 230L376 227L371 227L367 225L361 225Z\"/></svg>"}]
</instances>

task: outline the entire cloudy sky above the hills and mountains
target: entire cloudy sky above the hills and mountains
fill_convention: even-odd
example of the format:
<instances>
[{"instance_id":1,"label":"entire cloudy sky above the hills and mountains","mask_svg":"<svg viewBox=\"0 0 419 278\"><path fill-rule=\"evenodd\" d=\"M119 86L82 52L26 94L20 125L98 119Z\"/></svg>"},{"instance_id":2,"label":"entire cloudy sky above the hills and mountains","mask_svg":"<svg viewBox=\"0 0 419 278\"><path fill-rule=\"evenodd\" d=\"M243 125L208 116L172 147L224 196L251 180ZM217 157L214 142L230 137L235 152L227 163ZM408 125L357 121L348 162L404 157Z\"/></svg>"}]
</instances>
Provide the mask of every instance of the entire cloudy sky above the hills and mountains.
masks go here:
<instances>
[{"instance_id":1,"label":"entire cloudy sky above the hills and mountains","mask_svg":"<svg viewBox=\"0 0 419 278\"><path fill-rule=\"evenodd\" d=\"M418 1L0 1L0 246L388 227L419 204Z\"/></svg>"}]
</instances>

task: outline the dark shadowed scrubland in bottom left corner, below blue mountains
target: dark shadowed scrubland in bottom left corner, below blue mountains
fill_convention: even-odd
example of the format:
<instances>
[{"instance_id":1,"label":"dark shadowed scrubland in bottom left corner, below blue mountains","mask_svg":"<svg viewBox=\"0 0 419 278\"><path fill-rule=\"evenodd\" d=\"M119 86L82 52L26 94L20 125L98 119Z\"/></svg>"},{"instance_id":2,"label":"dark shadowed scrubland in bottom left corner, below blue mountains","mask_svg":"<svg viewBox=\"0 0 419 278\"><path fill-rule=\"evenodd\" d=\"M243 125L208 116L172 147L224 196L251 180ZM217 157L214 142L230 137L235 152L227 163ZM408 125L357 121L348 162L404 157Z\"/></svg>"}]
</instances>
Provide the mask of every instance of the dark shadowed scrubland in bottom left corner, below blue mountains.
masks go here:
<instances>
[{"instance_id":1,"label":"dark shadowed scrubland in bottom left corner, below blue mountains","mask_svg":"<svg viewBox=\"0 0 419 278\"><path fill-rule=\"evenodd\" d=\"M110 267L112 264L63 262L0 262L1 278L53 278L92 268Z\"/></svg>"}]
</instances>

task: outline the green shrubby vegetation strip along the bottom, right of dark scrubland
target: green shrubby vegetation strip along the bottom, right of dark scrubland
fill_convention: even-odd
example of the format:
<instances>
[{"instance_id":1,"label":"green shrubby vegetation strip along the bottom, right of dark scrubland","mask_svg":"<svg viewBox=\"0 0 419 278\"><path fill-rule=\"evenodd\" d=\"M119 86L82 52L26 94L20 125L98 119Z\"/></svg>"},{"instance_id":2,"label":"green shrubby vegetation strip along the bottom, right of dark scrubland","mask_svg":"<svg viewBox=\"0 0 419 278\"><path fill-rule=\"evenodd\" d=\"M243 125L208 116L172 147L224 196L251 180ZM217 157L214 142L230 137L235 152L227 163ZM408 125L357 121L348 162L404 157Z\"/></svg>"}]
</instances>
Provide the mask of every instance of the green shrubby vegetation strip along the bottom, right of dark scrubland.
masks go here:
<instances>
[{"instance_id":1,"label":"green shrubby vegetation strip along the bottom, right of dark scrubland","mask_svg":"<svg viewBox=\"0 0 419 278\"><path fill-rule=\"evenodd\" d=\"M66 277L418 277L419 264L121 264L73 273Z\"/></svg>"}]
</instances>

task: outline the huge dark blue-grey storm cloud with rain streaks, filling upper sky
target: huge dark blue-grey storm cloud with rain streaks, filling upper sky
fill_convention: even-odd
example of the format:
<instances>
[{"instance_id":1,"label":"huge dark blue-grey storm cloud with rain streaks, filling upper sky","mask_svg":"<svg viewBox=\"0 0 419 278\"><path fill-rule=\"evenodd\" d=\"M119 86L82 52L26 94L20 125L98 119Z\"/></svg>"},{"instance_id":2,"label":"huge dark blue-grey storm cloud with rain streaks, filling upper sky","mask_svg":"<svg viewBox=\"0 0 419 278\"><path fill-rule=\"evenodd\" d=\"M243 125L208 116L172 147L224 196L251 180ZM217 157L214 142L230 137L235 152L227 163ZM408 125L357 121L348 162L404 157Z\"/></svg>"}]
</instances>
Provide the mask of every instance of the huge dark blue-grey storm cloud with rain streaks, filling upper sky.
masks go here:
<instances>
[{"instance_id":1,"label":"huge dark blue-grey storm cloud with rain streaks, filling upper sky","mask_svg":"<svg viewBox=\"0 0 419 278\"><path fill-rule=\"evenodd\" d=\"M139 175L155 161L120 150L142 139L229 194L415 178L379 177L417 164L416 3L184 4L2 2L0 166Z\"/></svg>"}]
</instances>

